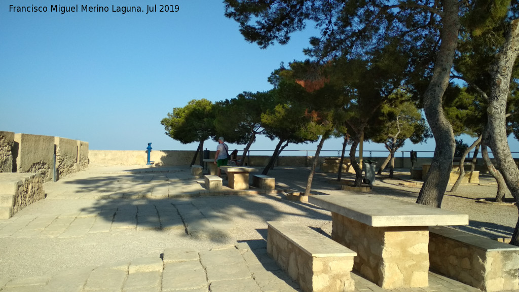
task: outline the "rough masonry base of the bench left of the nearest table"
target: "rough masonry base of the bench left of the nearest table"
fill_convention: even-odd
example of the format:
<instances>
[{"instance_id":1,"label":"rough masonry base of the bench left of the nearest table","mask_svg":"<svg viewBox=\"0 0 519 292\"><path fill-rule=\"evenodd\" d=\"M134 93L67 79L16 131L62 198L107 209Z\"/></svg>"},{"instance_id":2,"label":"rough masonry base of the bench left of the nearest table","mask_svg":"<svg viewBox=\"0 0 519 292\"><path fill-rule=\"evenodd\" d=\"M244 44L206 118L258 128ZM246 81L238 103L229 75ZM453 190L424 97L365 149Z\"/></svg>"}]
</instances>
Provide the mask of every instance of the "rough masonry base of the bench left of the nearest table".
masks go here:
<instances>
[{"instance_id":1,"label":"rough masonry base of the bench left of the nearest table","mask_svg":"<svg viewBox=\"0 0 519 292\"><path fill-rule=\"evenodd\" d=\"M312 257L268 228L267 253L305 292L353 291L351 257Z\"/></svg>"}]
</instances>

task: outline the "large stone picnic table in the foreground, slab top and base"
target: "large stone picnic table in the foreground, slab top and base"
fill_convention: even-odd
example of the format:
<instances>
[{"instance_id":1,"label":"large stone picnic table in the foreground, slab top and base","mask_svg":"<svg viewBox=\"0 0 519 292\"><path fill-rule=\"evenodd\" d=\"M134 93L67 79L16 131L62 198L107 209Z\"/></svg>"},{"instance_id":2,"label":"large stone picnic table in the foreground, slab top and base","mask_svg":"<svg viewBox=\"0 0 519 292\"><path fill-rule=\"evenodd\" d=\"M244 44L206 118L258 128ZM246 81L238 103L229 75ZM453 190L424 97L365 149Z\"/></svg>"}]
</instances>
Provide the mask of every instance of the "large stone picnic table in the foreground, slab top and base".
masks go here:
<instances>
[{"instance_id":1,"label":"large stone picnic table in the foreground, slab top and base","mask_svg":"<svg viewBox=\"0 0 519 292\"><path fill-rule=\"evenodd\" d=\"M332 212L332 238L357 252L353 269L384 289L429 286L429 226L469 216L374 194L314 195Z\"/></svg>"}]
</instances>

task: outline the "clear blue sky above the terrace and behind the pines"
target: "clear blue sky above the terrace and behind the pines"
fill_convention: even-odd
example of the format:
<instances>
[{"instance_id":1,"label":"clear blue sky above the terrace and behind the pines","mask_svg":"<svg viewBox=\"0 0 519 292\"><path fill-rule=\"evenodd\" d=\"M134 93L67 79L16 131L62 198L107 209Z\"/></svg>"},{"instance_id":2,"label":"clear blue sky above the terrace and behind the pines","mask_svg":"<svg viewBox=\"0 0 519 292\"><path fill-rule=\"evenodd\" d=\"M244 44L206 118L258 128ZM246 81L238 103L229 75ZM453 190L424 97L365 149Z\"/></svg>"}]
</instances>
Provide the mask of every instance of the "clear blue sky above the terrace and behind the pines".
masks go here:
<instances>
[{"instance_id":1,"label":"clear blue sky above the terrace and behind the pines","mask_svg":"<svg viewBox=\"0 0 519 292\"><path fill-rule=\"evenodd\" d=\"M147 5L165 4L153 0L2 0L0 130L88 141L94 150L144 150L148 142L154 150L195 150L197 144L182 145L164 134L160 121L168 112L192 99L214 102L270 89L270 72L281 62L305 59L302 49L316 34L309 27L288 45L262 50L244 41L238 24L224 17L221 1L170 3L179 11L146 14ZM51 11L57 4L79 11ZM9 5L47 12L10 12ZM81 5L109 11L81 12ZM123 5L144 11L112 11ZM323 149L338 150L340 142L326 142ZM251 149L275 144L262 137ZM211 150L215 146L206 142ZM364 149L385 150L380 144ZM408 142L402 150L411 149L432 151L434 141Z\"/></svg>"}]
</instances>

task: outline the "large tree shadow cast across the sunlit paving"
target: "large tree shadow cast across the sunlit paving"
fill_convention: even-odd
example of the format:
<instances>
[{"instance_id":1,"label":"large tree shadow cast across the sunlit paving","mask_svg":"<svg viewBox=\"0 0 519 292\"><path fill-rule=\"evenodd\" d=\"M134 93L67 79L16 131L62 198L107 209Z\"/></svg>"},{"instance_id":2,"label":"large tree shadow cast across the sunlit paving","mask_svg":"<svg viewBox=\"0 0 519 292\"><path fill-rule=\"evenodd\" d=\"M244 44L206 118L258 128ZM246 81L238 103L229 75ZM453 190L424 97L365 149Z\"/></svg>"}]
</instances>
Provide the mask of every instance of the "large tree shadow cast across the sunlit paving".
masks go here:
<instances>
[{"instance_id":1,"label":"large tree shadow cast across the sunlit paving","mask_svg":"<svg viewBox=\"0 0 519 292\"><path fill-rule=\"evenodd\" d=\"M331 220L319 207L284 201L275 195L200 195L206 190L197 179L168 173L117 173L63 183L67 191L58 197L95 199L81 212L97 216L92 229L100 231L175 230L194 239L227 244L243 239L236 238L236 231L248 229L248 222L255 228L266 221L288 218Z\"/></svg>"}]
</instances>

